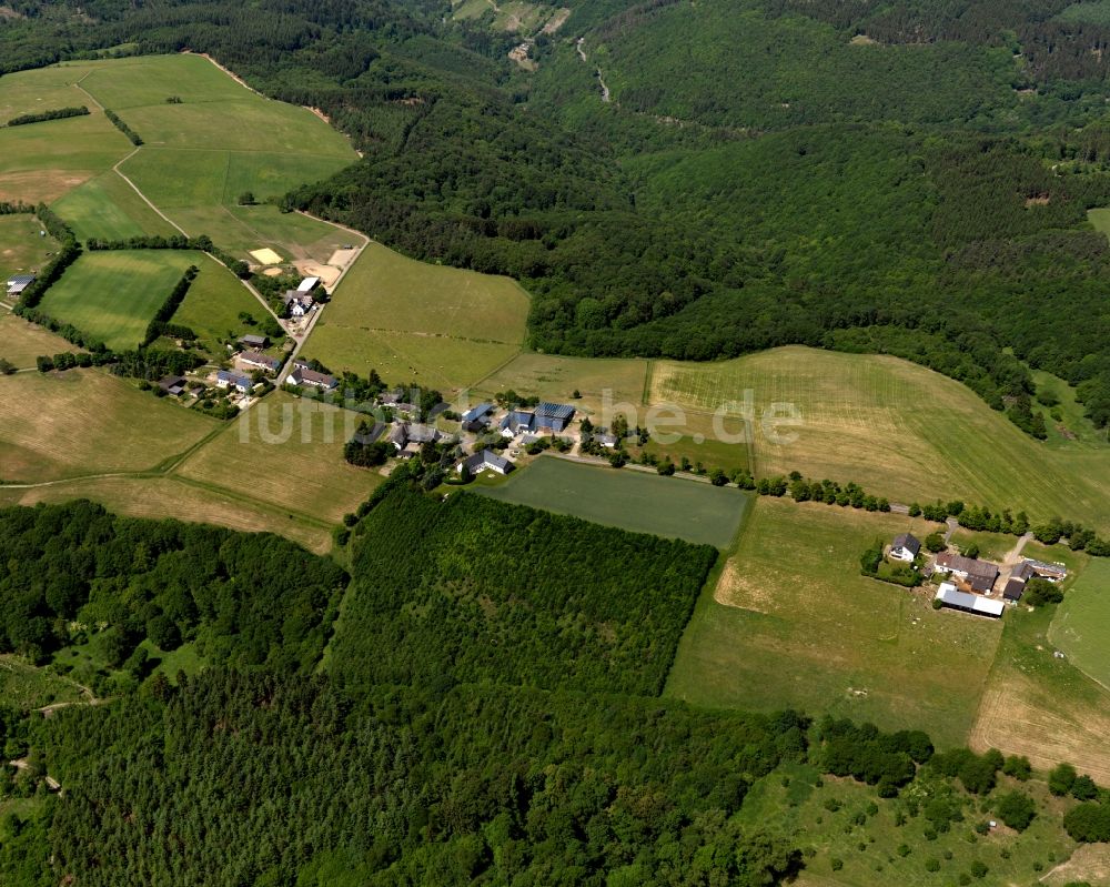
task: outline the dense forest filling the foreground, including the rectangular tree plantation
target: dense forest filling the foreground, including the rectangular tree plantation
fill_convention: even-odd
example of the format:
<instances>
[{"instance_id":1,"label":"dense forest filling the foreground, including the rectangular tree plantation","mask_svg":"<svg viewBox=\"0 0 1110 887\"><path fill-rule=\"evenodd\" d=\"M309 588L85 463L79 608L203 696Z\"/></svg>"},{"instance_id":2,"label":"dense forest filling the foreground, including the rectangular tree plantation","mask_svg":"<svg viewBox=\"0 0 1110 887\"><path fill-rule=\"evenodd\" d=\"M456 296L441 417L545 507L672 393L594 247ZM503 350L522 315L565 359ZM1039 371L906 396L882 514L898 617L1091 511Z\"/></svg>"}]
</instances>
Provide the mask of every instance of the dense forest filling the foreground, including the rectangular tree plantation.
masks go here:
<instances>
[{"instance_id":1,"label":"dense forest filling the foreground, including the rectangular tree plantation","mask_svg":"<svg viewBox=\"0 0 1110 887\"><path fill-rule=\"evenodd\" d=\"M324 651L346 579L329 558L84 502L3 510L6 612L109 634L157 609L148 638L213 641L209 667L132 669L100 705L0 706L21 762L0 768L0 883L757 887L836 867L804 831L740 816L787 774L803 794L828 792L821 774L870 787L860 836L877 803L909 841L1053 816L1022 758L658 698L712 550L404 481L360 511ZM89 587L62 604L70 575ZM1083 802L1064 805L1077 839L1101 839L1107 793L1072 768L1049 787Z\"/></svg>"}]
</instances>

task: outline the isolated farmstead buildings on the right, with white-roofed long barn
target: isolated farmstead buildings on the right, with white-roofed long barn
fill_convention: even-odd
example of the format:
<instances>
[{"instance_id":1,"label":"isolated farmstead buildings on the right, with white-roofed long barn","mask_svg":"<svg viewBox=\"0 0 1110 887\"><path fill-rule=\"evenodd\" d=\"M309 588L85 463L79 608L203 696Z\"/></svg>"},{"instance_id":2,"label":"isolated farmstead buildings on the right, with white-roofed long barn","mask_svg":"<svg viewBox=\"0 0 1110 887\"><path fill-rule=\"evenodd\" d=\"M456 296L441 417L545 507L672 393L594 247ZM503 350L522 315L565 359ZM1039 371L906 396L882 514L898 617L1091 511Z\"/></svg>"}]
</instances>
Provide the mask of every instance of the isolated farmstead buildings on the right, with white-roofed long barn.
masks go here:
<instances>
[{"instance_id":1,"label":"isolated farmstead buildings on the right, with white-roofed long barn","mask_svg":"<svg viewBox=\"0 0 1110 887\"><path fill-rule=\"evenodd\" d=\"M921 553L921 543L909 533L896 536L889 557L914 563ZM999 567L991 561L941 552L926 564L924 574L940 574L945 579L937 588L936 599L944 607L998 618L1007 604L1017 604L1031 578L1062 582L1068 576L1063 564L1023 558L1012 568Z\"/></svg>"}]
</instances>

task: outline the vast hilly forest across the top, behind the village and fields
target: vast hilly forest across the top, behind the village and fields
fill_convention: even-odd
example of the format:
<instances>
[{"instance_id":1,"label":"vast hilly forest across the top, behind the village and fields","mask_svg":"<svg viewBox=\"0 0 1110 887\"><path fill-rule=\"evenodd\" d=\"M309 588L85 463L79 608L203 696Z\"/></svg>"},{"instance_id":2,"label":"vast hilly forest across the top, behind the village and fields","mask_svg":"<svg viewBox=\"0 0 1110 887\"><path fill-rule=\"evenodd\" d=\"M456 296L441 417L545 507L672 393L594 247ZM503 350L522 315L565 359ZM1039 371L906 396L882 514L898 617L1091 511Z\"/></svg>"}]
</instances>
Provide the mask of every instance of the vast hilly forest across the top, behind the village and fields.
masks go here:
<instances>
[{"instance_id":1,"label":"vast hilly forest across the top, behind the village and fields","mask_svg":"<svg viewBox=\"0 0 1110 887\"><path fill-rule=\"evenodd\" d=\"M527 73L432 0L24 0L0 69L189 48L324 109L364 158L284 205L521 279L537 349L890 352L1036 433L1028 364L1110 422L1097 3L568 7Z\"/></svg>"}]
</instances>

